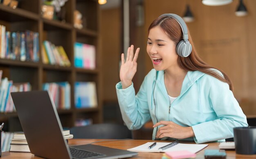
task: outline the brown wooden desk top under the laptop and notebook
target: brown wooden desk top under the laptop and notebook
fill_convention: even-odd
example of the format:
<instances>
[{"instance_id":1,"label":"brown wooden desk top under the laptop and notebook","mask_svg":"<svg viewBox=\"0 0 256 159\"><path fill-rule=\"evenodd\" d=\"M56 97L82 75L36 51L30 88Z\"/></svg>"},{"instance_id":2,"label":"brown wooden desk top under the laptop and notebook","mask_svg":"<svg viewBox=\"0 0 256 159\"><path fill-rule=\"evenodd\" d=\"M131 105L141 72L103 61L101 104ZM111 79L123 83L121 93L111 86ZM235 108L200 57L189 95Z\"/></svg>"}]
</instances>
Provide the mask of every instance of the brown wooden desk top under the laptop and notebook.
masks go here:
<instances>
[{"instance_id":1,"label":"brown wooden desk top under the laptop and notebook","mask_svg":"<svg viewBox=\"0 0 256 159\"><path fill-rule=\"evenodd\" d=\"M69 139L69 145L80 145L80 144L90 144L92 142L100 141L101 139ZM120 140L120 141L102 141L94 143L95 145L107 146L111 148L118 148L126 150L128 148L136 147L141 144L145 144L146 142L153 142L152 140ZM159 141L158 141L159 142ZM168 141L163 141L168 142ZM186 144L195 144L194 142L181 142ZM207 143L209 146L198 152L196 155L196 159L204 159L204 150L205 149L218 149L218 142ZM234 150L228 150L227 159L256 159L256 155L238 155ZM133 157L132 159L161 159L163 153L146 153L139 152L139 155ZM3 152L3 159L41 159L40 157L36 157L28 152Z\"/></svg>"}]
</instances>

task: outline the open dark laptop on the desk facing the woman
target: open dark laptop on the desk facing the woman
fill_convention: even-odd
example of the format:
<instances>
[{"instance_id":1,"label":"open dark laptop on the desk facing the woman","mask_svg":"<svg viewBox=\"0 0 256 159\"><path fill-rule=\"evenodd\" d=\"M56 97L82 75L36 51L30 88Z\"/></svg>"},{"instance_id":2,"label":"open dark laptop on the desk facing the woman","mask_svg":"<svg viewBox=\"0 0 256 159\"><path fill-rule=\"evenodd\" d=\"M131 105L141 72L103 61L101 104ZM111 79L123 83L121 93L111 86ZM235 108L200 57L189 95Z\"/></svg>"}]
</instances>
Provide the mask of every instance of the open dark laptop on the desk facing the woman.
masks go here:
<instances>
[{"instance_id":1,"label":"open dark laptop on the desk facing the woman","mask_svg":"<svg viewBox=\"0 0 256 159\"><path fill-rule=\"evenodd\" d=\"M47 159L117 159L137 155L137 152L93 144L68 146L62 135L63 129L56 107L48 91L11 92L11 97L29 149L38 157ZM84 154L89 154L90 157L85 157Z\"/></svg>"}]
</instances>

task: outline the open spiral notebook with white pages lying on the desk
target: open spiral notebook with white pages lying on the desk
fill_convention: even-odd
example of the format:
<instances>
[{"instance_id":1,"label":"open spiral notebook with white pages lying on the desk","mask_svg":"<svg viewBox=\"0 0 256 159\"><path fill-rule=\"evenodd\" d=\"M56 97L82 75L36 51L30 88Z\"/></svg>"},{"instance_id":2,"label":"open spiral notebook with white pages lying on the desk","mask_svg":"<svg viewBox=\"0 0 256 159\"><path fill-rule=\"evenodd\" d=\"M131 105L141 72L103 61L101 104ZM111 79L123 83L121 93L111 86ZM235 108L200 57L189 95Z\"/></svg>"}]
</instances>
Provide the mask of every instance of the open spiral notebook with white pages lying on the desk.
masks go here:
<instances>
[{"instance_id":1,"label":"open spiral notebook with white pages lying on the desk","mask_svg":"<svg viewBox=\"0 0 256 159\"><path fill-rule=\"evenodd\" d=\"M153 143L154 142L147 142L146 144L137 146L135 148L130 148L127 150L132 152L171 152L171 151L188 150L190 152L196 153L208 146L208 144L180 144L179 143L176 145L171 145L172 142L157 142L157 144L153 148L148 149L148 147ZM165 150L162 150L162 149L158 150L163 146L166 146Z\"/></svg>"}]
</instances>

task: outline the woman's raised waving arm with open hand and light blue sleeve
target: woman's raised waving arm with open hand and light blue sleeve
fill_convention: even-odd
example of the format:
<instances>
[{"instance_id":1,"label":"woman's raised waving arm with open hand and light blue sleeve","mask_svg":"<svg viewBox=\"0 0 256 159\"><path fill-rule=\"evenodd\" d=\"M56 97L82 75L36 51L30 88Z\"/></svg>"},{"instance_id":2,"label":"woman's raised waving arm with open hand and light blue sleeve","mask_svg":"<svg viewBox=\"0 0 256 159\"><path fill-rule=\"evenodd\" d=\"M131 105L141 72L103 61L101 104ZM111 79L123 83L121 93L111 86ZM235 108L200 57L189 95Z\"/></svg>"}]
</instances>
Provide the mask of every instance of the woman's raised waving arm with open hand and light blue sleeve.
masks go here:
<instances>
[{"instance_id":1,"label":"woman's raised waving arm with open hand and light blue sleeve","mask_svg":"<svg viewBox=\"0 0 256 159\"><path fill-rule=\"evenodd\" d=\"M146 78L144 79L139 92L135 96L135 89L132 84L132 78L137 71L137 57L139 48L133 57L133 46L127 50L127 58L124 61L124 54L121 55L121 82L117 83L117 98L122 114L122 118L130 130L141 128L148 120L150 113L148 110L146 95Z\"/></svg>"}]
</instances>

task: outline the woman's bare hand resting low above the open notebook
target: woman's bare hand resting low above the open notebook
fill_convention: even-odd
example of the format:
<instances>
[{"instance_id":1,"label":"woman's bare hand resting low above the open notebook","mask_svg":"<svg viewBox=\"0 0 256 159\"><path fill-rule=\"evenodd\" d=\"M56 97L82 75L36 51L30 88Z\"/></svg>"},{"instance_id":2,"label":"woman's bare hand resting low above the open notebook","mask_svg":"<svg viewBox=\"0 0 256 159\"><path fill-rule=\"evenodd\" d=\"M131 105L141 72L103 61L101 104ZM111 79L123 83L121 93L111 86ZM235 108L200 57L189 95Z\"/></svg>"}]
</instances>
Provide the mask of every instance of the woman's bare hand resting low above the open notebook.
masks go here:
<instances>
[{"instance_id":1,"label":"woman's bare hand resting low above the open notebook","mask_svg":"<svg viewBox=\"0 0 256 159\"><path fill-rule=\"evenodd\" d=\"M175 139L185 139L188 137L194 137L192 127L183 127L174 122L160 121L157 122L153 127L165 125L158 129L156 138L171 137Z\"/></svg>"}]
</instances>

